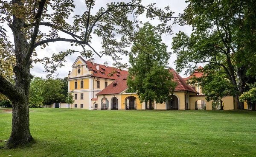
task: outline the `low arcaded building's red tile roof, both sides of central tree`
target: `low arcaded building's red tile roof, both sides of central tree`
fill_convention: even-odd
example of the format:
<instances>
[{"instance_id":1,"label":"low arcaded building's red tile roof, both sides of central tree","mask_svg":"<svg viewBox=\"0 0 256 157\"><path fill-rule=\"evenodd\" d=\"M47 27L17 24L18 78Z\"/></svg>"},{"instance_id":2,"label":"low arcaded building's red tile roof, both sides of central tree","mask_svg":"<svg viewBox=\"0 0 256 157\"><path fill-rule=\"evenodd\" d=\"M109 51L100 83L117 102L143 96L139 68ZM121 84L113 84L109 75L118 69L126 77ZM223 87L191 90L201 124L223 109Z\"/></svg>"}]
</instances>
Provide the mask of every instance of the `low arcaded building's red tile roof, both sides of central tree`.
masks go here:
<instances>
[{"instance_id":1,"label":"low arcaded building's red tile roof, both sides of central tree","mask_svg":"<svg viewBox=\"0 0 256 157\"><path fill-rule=\"evenodd\" d=\"M177 87L175 88L175 91L189 91L193 93L198 93L196 90L194 90L192 87L190 87L186 82L180 77L179 74L176 73L174 69L170 69L170 72L173 73L173 81L177 82ZM113 81L111 84L108 85L104 90L97 93L96 95L108 95L108 94L119 94L122 91L126 90L128 88L127 86L127 77L128 74L122 75L119 78L117 78L115 81ZM114 83L116 83L116 86L113 86Z\"/></svg>"}]
</instances>

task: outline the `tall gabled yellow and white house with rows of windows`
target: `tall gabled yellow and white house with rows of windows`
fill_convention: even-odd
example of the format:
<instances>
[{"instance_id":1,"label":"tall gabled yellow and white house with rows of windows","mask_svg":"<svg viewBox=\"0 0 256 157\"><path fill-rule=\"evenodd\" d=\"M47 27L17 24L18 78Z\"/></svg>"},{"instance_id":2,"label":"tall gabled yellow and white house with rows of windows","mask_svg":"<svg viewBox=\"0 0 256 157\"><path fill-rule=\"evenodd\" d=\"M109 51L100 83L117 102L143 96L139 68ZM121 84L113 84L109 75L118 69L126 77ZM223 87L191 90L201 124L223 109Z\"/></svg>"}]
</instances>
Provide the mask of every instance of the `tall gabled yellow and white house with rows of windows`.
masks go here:
<instances>
[{"instance_id":1,"label":"tall gabled yellow and white house with rows of windows","mask_svg":"<svg viewBox=\"0 0 256 157\"><path fill-rule=\"evenodd\" d=\"M68 92L73 91L75 99L70 107L95 108L91 102L97 98L96 94L124 74L128 72L109 67L108 62L97 64L93 58L85 61L81 56L77 57L67 78Z\"/></svg>"}]
</instances>

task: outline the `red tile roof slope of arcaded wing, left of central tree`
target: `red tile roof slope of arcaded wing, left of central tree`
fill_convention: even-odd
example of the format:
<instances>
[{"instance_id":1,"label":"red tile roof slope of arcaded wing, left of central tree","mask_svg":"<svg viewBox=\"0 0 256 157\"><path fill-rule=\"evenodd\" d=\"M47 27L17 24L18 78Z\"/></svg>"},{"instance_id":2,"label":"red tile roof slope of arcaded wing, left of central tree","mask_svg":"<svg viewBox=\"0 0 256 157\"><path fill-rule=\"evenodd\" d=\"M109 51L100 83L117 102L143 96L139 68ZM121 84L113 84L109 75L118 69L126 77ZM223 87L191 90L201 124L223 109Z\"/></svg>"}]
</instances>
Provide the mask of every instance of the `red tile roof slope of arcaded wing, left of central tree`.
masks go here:
<instances>
[{"instance_id":1,"label":"red tile roof slope of arcaded wing, left of central tree","mask_svg":"<svg viewBox=\"0 0 256 157\"><path fill-rule=\"evenodd\" d=\"M104 90L100 91L96 95L108 95L108 94L121 93L122 91L124 91L128 88L127 83L126 83L127 77L128 77L128 74L120 76L115 81L113 81L111 84L109 84L108 87L106 87ZM114 84L116 84L116 86L114 86Z\"/></svg>"}]
</instances>

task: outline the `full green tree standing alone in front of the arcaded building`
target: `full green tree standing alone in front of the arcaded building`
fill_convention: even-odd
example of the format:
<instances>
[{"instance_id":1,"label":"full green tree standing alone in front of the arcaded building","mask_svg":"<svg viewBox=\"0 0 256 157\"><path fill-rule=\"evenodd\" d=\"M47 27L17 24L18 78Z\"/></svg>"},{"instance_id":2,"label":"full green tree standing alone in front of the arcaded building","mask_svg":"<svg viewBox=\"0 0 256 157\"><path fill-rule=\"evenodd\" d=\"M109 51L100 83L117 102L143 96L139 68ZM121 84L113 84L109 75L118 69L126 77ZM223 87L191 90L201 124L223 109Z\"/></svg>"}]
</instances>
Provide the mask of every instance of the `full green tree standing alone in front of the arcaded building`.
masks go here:
<instances>
[{"instance_id":1,"label":"full green tree standing alone in front of the arcaded building","mask_svg":"<svg viewBox=\"0 0 256 157\"><path fill-rule=\"evenodd\" d=\"M170 53L162 43L161 35L156 28L146 22L137 32L136 41L131 48L127 84L130 90L137 92L140 102L152 101L163 103L175 90L173 75L167 67Z\"/></svg>"}]
</instances>

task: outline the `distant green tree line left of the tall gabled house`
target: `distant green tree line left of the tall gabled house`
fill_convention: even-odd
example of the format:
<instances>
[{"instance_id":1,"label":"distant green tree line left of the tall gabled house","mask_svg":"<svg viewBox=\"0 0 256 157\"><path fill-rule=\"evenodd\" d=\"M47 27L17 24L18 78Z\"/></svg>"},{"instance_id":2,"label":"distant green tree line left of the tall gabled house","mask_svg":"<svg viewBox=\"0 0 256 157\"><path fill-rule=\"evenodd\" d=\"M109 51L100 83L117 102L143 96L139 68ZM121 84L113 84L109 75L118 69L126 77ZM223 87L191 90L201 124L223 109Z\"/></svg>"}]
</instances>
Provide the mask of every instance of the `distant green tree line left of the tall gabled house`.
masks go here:
<instances>
[{"instance_id":1,"label":"distant green tree line left of the tall gabled house","mask_svg":"<svg viewBox=\"0 0 256 157\"><path fill-rule=\"evenodd\" d=\"M30 85L29 107L42 107L55 102L65 102L67 91L67 77L56 79L35 77ZM11 101L5 96L1 96L0 107L12 107Z\"/></svg>"}]
</instances>

